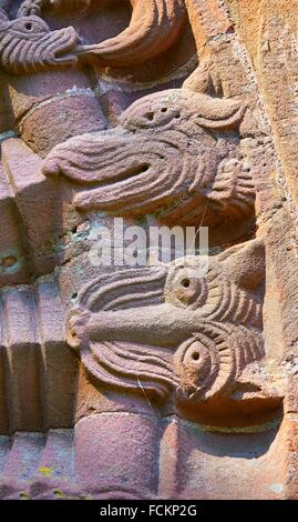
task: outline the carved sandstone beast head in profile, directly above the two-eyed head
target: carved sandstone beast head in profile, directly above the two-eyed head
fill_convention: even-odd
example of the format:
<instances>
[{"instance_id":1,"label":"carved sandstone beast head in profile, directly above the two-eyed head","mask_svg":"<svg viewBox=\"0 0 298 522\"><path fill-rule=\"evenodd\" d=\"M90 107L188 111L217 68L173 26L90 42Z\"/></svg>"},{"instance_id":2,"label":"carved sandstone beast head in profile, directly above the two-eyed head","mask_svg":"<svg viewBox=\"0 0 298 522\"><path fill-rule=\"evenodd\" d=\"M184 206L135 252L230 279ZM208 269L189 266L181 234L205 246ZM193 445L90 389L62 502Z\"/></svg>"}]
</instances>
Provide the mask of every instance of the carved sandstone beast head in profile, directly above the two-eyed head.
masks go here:
<instances>
[{"instance_id":1,"label":"carved sandstone beast head in profile, directly above the two-eyed head","mask_svg":"<svg viewBox=\"0 0 298 522\"><path fill-rule=\"evenodd\" d=\"M78 185L79 210L156 212L167 224L216 225L254 212L250 167L237 126L245 108L172 89L133 103L113 130L55 147L45 175Z\"/></svg>"}]
</instances>

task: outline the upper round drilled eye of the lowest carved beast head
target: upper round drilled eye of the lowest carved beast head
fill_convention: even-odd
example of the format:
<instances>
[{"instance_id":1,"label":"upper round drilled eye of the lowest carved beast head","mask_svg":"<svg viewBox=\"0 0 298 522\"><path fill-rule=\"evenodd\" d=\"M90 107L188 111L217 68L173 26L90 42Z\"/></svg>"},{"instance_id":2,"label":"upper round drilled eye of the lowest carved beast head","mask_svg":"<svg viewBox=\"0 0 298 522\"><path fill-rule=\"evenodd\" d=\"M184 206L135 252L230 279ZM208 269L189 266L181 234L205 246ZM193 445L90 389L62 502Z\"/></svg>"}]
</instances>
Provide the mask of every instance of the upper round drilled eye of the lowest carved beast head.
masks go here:
<instances>
[{"instance_id":1,"label":"upper round drilled eye of the lowest carved beast head","mask_svg":"<svg viewBox=\"0 0 298 522\"><path fill-rule=\"evenodd\" d=\"M165 289L165 301L196 309L206 302L207 294L206 279L201 278L193 269L183 269L169 275Z\"/></svg>"}]
</instances>

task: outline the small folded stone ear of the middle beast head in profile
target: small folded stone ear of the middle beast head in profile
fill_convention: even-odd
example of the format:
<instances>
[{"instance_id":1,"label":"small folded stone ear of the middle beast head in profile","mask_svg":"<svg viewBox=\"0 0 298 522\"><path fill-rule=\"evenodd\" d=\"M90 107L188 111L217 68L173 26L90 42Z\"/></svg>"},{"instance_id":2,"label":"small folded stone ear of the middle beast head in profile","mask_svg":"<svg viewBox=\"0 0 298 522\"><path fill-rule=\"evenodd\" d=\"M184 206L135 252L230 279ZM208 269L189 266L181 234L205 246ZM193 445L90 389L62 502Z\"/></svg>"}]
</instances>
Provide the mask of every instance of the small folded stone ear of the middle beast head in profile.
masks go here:
<instances>
[{"instance_id":1,"label":"small folded stone ear of the middle beast head in profile","mask_svg":"<svg viewBox=\"0 0 298 522\"><path fill-rule=\"evenodd\" d=\"M196 122L210 130L225 130L239 126L246 107L236 100L212 98L206 94L195 94L197 98Z\"/></svg>"}]
</instances>

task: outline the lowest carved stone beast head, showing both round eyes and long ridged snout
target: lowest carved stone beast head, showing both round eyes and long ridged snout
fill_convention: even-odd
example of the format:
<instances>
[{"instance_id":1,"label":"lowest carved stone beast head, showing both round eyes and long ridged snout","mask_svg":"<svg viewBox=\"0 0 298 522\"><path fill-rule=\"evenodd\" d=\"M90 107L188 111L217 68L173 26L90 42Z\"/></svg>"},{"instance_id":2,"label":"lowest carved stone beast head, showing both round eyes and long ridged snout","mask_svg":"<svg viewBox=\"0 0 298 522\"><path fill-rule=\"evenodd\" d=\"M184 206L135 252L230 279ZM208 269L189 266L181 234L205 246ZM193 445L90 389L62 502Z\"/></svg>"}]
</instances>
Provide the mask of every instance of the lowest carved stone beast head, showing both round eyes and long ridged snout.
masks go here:
<instances>
[{"instance_id":1,"label":"lowest carved stone beast head, showing both round eyes and long ridged snout","mask_svg":"<svg viewBox=\"0 0 298 522\"><path fill-rule=\"evenodd\" d=\"M197 405L230 400L265 357L264 278L258 240L210 258L114 272L109 282L102 274L79 294L69 344L105 385L137 390L141 382L148 393L174 392ZM250 399L253 388L250 381Z\"/></svg>"}]
</instances>

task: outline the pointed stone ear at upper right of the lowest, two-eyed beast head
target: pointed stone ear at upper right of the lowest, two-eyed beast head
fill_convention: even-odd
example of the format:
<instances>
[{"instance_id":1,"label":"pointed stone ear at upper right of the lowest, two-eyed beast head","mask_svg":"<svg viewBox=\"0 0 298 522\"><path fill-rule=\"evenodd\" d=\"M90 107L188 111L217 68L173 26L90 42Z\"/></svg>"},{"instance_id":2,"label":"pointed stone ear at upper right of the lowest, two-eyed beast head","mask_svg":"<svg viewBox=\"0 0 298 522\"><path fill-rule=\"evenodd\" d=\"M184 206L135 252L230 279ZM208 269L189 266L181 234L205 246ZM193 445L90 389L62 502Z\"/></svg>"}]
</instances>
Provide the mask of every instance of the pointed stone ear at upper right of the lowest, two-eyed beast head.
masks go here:
<instances>
[{"instance_id":1,"label":"pointed stone ear at upper right of the lowest, two-eyed beast head","mask_svg":"<svg viewBox=\"0 0 298 522\"><path fill-rule=\"evenodd\" d=\"M223 254L224 271L240 288L256 290L265 279L266 255L263 241L254 240L240 247L232 247Z\"/></svg>"}]
</instances>

